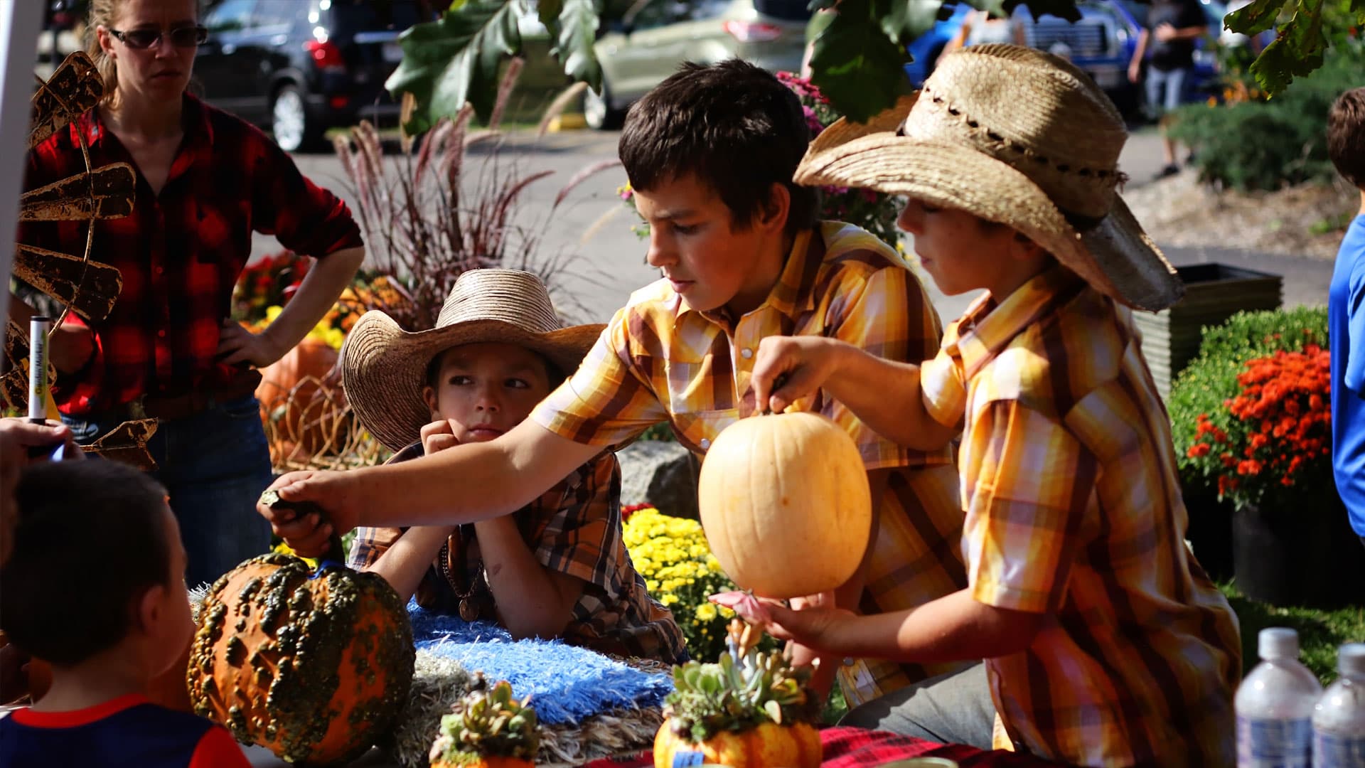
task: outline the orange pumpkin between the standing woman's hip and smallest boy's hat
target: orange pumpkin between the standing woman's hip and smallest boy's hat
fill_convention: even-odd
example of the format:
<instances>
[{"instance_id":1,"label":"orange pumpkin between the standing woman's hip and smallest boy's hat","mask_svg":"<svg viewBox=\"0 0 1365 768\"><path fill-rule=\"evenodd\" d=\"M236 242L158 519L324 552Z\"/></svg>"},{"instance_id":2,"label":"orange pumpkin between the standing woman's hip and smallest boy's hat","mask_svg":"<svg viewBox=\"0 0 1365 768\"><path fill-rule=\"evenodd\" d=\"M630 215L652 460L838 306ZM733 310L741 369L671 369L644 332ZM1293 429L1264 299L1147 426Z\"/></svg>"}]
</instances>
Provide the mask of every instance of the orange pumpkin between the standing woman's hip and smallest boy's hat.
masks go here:
<instances>
[{"instance_id":1,"label":"orange pumpkin between the standing woman's hip and smallest boy's hat","mask_svg":"<svg viewBox=\"0 0 1365 768\"><path fill-rule=\"evenodd\" d=\"M332 376L336 362L337 351L326 342L303 339L261 369L255 396L276 465L340 445L345 396Z\"/></svg>"}]
</instances>

